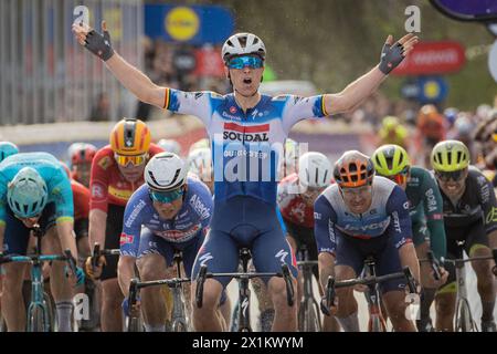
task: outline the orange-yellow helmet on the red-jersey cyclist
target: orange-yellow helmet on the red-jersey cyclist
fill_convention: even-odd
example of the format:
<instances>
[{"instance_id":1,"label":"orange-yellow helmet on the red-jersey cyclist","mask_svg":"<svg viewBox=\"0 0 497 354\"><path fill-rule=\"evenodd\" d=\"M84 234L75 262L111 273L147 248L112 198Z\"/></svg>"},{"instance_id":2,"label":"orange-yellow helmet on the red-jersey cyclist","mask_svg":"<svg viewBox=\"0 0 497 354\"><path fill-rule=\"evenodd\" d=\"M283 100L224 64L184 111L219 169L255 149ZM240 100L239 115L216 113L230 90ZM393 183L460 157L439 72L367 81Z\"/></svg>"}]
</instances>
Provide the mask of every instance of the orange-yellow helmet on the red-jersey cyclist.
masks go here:
<instances>
[{"instance_id":1,"label":"orange-yellow helmet on the red-jersey cyclist","mask_svg":"<svg viewBox=\"0 0 497 354\"><path fill-rule=\"evenodd\" d=\"M110 148L117 155L144 155L150 147L150 131L140 119L124 118L110 132Z\"/></svg>"}]
</instances>

